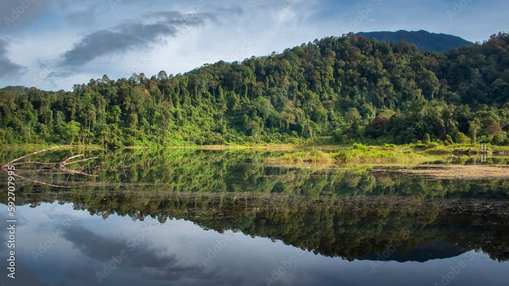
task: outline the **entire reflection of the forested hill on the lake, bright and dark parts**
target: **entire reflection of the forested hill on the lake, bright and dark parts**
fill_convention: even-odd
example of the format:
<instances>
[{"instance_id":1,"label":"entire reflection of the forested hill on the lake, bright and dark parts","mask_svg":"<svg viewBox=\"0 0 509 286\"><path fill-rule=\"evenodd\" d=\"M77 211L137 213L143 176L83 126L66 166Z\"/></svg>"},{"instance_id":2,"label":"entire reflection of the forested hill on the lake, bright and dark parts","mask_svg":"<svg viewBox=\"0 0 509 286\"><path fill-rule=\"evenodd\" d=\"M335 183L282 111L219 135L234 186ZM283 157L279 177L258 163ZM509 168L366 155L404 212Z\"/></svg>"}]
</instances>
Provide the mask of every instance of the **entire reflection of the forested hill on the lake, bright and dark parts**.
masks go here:
<instances>
[{"instance_id":1,"label":"entire reflection of the forested hill on the lake, bright and dark parts","mask_svg":"<svg viewBox=\"0 0 509 286\"><path fill-rule=\"evenodd\" d=\"M117 151L99 159L103 170L90 170L98 175L87 178L90 186L69 190L18 182L16 204L59 201L104 217L186 219L348 260L383 251L395 241L399 252L447 241L482 249L492 259L509 259L505 180L423 180L355 166L264 163L274 152L134 150L126 157L124 175L118 169L124 152ZM59 171L18 172L67 185L83 182ZM0 202L7 203L5 191Z\"/></svg>"}]
</instances>

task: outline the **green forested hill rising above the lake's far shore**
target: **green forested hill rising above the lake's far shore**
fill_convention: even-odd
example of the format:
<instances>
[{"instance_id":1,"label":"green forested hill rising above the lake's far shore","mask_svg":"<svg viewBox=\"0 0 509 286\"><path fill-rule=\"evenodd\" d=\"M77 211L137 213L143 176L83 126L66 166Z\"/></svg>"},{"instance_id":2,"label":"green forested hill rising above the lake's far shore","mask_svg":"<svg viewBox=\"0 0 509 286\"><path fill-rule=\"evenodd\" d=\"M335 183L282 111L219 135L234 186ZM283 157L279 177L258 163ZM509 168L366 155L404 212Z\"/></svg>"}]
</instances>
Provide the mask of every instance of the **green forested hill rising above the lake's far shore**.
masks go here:
<instances>
[{"instance_id":1,"label":"green forested hill rising above the lake's far shore","mask_svg":"<svg viewBox=\"0 0 509 286\"><path fill-rule=\"evenodd\" d=\"M446 53L349 34L184 75L0 91L0 144L507 144L509 35ZM427 137L427 136L426 136Z\"/></svg>"}]
</instances>

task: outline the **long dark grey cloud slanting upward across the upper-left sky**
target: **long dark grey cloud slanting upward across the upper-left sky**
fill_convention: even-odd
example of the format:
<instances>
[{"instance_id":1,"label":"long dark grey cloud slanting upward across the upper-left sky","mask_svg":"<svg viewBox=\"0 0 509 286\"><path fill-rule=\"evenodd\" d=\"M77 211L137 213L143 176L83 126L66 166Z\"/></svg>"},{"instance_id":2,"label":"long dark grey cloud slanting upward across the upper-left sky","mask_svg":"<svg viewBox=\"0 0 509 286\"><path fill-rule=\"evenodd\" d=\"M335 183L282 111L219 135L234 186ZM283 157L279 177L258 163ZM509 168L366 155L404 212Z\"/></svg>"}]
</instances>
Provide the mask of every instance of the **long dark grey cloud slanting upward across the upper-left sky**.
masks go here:
<instances>
[{"instance_id":1,"label":"long dark grey cloud slanting upward across the upper-left sky","mask_svg":"<svg viewBox=\"0 0 509 286\"><path fill-rule=\"evenodd\" d=\"M124 54L148 48L167 37L176 37L183 28L197 28L207 20L216 21L212 13L181 14L164 11L146 14L145 22L126 22L111 29L101 29L85 36L63 55L63 65L83 65L104 55Z\"/></svg>"}]
</instances>

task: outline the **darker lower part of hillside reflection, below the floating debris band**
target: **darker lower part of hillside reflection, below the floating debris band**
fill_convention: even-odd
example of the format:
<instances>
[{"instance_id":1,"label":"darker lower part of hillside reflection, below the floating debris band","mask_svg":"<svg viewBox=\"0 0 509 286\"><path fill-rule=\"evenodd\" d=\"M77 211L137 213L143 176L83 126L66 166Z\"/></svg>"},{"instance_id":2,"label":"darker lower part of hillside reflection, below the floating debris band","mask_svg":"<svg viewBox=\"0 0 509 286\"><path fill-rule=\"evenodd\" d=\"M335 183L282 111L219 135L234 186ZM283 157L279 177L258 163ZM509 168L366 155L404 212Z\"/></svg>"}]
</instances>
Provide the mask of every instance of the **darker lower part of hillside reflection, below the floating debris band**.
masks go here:
<instances>
[{"instance_id":1,"label":"darker lower part of hillside reflection, below the floating debris band","mask_svg":"<svg viewBox=\"0 0 509 286\"><path fill-rule=\"evenodd\" d=\"M392 196L334 199L274 194L168 194L130 187L105 195L57 193L50 200L43 199L46 195L49 194L26 198L24 203L58 200L104 217L116 213L143 220L151 216L161 223L167 218L185 219L202 228L268 237L348 260L376 257L395 242L398 253L410 256L409 251L416 252L419 245L435 241L465 249L479 248L500 261L509 259L509 223L503 214L507 204L495 206L502 209L500 212L488 207L494 202L486 200L462 205L461 200ZM490 237L490 241L485 237ZM442 256L429 257L436 258Z\"/></svg>"}]
</instances>

